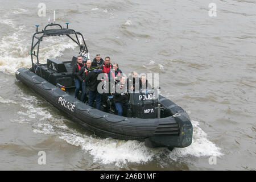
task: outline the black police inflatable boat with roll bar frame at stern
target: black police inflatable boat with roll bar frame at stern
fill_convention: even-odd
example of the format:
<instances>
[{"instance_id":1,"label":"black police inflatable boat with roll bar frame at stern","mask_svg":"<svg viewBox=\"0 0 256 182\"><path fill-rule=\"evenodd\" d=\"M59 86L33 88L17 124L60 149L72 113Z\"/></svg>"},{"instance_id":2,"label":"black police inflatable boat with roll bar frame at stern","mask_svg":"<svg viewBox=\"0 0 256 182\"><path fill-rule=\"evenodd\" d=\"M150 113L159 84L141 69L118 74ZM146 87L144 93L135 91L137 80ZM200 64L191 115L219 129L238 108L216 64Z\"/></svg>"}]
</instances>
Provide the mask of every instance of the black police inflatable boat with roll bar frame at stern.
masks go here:
<instances>
[{"instance_id":1,"label":"black police inflatable boat with roll bar frame at stern","mask_svg":"<svg viewBox=\"0 0 256 182\"><path fill-rule=\"evenodd\" d=\"M193 127L188 114L159 94L159 88L131 92L129 110L123 113L125 116L117 115L111 96L102 97L101 110L81 102L81 91L79 98L75 98L72 68L77 63L77 56L72 55L69 61L48 58L46 64L39 63L40 42L49 36L67 36L79 46L79 55L89 59L84 37L68 28L68 23L66 27L49 23L42 31L38 31L36 25L29 52L32 67L19 68L15 73L17 80L99 137L139 140L147 147L167 147L170 150L192 143Z\"/></svg>"}]
</instances>

